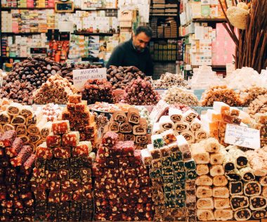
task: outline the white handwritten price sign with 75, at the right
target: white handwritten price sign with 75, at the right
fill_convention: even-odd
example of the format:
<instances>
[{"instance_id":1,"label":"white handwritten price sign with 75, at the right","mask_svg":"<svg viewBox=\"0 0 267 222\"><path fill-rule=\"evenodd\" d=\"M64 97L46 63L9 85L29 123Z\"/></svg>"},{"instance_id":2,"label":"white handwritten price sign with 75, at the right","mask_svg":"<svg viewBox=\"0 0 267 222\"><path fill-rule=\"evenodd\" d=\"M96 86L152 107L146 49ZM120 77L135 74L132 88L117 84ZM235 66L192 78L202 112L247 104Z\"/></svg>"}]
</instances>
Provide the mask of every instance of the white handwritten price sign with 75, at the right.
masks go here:
<instances>
[{"instance_id":1,"label":"white handwritten price sign with 75, at the right","mask_svg":"<svg viewBox=\"0 0 267 222\"><path fill-rule=\"evenodd\" d=\"M224 141L231 145L238 145L244 148L261 148L259 130L245 126L226 124Z\"/></svg>"}]
</instances>

